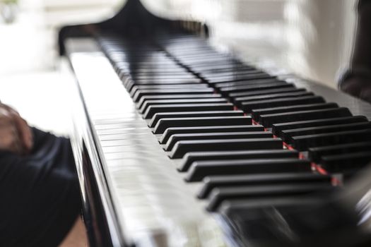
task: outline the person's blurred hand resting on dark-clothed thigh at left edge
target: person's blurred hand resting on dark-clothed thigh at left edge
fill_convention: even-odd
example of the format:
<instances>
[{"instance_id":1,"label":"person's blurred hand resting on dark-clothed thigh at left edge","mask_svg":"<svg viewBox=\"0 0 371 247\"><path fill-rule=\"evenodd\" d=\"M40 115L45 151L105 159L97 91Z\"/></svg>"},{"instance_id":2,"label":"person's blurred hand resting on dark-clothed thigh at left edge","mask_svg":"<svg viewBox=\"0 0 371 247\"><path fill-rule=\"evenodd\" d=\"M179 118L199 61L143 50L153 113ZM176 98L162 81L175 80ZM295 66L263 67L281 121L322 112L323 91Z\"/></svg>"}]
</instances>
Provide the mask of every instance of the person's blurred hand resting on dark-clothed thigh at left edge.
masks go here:
<instances>
[{"instance_id":1,"label":"person's blurred hand resting on dark-clothed thigh at left edge","mask_svg":"<svg viewBox=\"0 0 371 247\"><path fill-rule=\"evenodd\" d=\"M33 147L33 135L16 110L0 104L0 150L25 155Z\"/></svg>"}]
</instances>

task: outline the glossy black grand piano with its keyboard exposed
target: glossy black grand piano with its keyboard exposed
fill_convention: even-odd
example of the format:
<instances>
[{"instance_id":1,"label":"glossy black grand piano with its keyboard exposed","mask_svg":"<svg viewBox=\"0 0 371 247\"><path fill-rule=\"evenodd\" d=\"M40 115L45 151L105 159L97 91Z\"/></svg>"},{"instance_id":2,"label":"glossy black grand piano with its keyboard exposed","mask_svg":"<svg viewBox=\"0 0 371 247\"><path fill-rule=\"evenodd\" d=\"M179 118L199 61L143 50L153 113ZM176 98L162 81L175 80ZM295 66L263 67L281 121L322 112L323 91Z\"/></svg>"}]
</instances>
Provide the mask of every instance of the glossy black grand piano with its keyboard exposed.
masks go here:
<instances>
[{"instance_id":1,"label":"glossy black grand piano with its keyboard exposed","mask_svg":"<svg viewBox=\"0 0 371 247\"><path fill-rule=\"evenodd\" d=\"M209 28L128 0L60 30L90 246L367 246L370 104Z\"/></svg>"}]
</instances>

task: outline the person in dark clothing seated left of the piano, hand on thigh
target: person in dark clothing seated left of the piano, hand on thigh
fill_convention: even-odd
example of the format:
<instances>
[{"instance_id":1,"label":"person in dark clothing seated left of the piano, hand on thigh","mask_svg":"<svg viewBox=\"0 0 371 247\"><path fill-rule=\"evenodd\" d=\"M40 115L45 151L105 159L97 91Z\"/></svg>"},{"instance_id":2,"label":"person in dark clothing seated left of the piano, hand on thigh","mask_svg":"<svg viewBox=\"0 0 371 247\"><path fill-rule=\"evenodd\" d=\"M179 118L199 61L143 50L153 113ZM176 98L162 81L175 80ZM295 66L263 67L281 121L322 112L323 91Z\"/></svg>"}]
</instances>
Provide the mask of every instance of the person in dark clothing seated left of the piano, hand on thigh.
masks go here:
<instances>
[{"instance_id":1,"label":"person in dark clothing seated left of the piano, hand on thigh","mask_svg":"<svg viewBox=\"0 0 371 247\"><path fill-rule=\"evenodd\" d=\"M86 246L68 138L0 103L0 246Z\"/></svg>"}]
</instances>

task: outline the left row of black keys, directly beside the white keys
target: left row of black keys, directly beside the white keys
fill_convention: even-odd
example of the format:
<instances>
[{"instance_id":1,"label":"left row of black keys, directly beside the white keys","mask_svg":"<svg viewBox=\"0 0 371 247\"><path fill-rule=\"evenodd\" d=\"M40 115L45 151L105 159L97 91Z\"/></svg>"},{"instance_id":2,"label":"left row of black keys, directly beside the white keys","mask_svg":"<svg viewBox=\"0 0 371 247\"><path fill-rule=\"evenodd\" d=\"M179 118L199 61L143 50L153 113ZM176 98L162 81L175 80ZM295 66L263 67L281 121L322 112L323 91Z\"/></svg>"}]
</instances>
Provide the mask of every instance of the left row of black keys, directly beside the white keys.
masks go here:
<instances>
[{"instance_id":1,"label":"left row of black keys, directly beside the white keys","mask_svg":"<svg viewBox=\"0 0 371 247\"><path fill-rule=\"evenodd\" d=\"M115 53L114 57L119 57ZM264 132L262 126L252 126L249 116L233 111L233 104L213 93L213 88L208 88L206 83L178 80L178 69L170 73L170 67L177 68L176 65L164 62L169 69L163 73L163 64L158 69L159 64L151 66L151 62L139 61L141 54L135 56L134 62L114 61L114 65L119 64L115 68L118 72L132 71L132 78L136 76L136 80L126 80L124 85L138 102L143 116L151 118L149 126L154 127L154 133L163 134L160 143L166 143L165 150L172 151L170 157L184 157L179 171L188 171L187 181L208 178L204 192L199 195L210 198L208 210L216 210L223 200L231 198L302 195L331 186L329 176L312 174L309 161L298 159L298 152L283 150L280 139ZM133 68L141 69L142 73ZM143 76L144 70L146 76ZM156 78L172 80L163 82ZM220 102L208 102L208 99ZM220 109L218 104L227 108ZM155 109L151 117L147 116L148 109Z\"/></svg>"}]
</instances>

